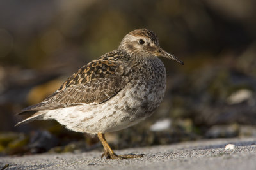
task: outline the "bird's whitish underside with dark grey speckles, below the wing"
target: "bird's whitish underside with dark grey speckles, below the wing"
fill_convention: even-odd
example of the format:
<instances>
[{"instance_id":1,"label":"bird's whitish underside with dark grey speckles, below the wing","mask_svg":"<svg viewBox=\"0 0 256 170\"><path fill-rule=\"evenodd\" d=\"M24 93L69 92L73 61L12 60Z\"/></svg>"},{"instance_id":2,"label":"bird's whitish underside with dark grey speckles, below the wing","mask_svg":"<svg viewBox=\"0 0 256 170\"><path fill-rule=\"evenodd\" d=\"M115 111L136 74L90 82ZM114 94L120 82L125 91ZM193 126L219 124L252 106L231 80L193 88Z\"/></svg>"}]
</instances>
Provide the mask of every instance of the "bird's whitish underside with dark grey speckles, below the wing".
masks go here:
<instances>
[{"instance_id":1,"label":"bird's whitish underside with dark grey speckles, below the wing","mask_svg":"<svg viewBox=\"0 0 256 170\"><path fill-rule=\"evenodd\" d=\"M79 105L45 114L76 132L97 134L125 129L149 117L162 101L165 80L157 85L127 85L108 101L95 105Z\"/></svg>"}]
</instances>

